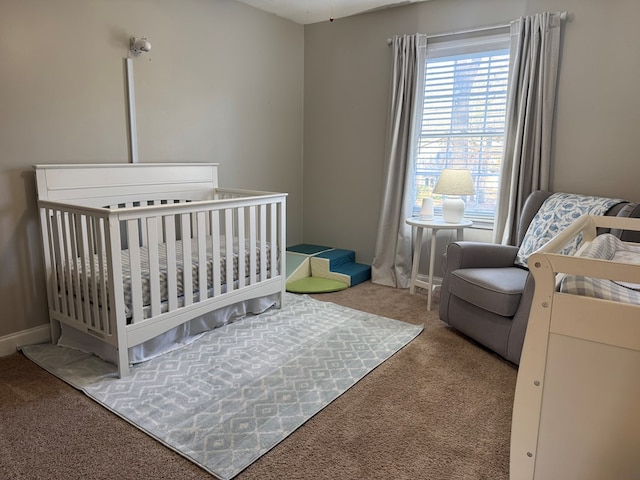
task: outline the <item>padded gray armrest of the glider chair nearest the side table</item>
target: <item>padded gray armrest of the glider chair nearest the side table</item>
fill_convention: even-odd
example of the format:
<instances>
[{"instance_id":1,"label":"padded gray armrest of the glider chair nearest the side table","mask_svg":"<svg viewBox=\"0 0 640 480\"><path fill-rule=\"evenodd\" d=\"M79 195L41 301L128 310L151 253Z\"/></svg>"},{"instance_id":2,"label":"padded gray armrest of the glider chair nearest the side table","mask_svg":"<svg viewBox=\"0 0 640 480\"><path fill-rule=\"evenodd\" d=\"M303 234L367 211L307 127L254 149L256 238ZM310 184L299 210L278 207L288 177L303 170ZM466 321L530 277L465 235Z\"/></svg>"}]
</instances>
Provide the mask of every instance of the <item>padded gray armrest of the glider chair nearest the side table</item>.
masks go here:
<instances>
[{"instance_id":1,"label":"padded gray armrest of the glider chair nearest the side table","mask_svg":"<svg viewBox=\"0 0 640 480\"><path fill-rule=\"evenodd\" d=\"M443 262L445 272L459 268L513 267L519 248L483 242L452 242Z\"/></svg>"}]
</instances>

